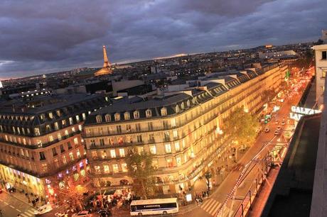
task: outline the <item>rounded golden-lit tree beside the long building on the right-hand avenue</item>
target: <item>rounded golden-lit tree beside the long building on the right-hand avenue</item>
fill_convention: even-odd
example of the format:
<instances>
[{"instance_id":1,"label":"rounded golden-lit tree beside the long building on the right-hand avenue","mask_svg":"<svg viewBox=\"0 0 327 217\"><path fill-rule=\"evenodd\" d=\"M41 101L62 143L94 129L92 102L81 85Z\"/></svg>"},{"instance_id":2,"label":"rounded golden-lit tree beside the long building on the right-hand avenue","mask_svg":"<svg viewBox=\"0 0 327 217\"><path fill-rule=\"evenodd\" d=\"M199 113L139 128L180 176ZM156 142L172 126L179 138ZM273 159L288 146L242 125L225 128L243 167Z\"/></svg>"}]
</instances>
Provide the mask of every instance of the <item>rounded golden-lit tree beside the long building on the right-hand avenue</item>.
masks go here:
<instances>
[{"instance_id":1,"label":"rounded golden-lit tree beside the long building on the right-hand avenue","mask_svg":"<svg viewBox=\"0 0 327 217\"><path fill-rule=\"evenodd\" d=\"M257 116L245 112L244 107L239 107L226 118L223 128L238 144L247 147L254 142L258 127Z\"/></svg>"}]
</instances>

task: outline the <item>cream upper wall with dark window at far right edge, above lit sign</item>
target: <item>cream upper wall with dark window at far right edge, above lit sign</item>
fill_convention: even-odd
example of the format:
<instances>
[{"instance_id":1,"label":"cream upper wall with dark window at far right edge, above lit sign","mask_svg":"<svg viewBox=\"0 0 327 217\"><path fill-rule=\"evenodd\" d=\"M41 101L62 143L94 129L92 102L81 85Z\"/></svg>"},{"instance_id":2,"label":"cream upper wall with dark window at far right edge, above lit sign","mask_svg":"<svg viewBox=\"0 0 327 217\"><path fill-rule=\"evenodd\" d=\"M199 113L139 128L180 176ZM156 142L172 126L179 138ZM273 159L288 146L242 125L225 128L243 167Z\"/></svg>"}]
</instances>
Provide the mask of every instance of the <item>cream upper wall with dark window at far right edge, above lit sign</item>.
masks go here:
<instances>
[{"instance_id":1,"label":"cream upper wall with dark window at far right edge, above lit sign","mask_svg":"<svg viewBox=\"0 0 327 217\"><path fill-rule=\"evenodd\" d=\"M316 59L316 97L318 106L323 104L325 77L327 72L327 44L313 46Z\"/></svg>"}]
</instances>

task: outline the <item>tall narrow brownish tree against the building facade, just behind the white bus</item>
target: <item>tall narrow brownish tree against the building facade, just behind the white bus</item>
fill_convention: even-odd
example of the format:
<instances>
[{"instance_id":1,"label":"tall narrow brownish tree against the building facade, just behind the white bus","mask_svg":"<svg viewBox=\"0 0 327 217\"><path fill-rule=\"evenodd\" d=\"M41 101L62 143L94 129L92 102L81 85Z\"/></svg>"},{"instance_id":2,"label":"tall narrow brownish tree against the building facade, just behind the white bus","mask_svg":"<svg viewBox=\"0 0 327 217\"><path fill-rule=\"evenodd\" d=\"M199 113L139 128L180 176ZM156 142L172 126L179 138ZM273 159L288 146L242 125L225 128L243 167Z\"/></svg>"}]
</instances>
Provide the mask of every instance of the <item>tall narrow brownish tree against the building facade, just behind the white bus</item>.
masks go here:
<instances>
[{"instance_id":1,"label":"tall narrow brownish tree against the building facade, just behind the white bus","mask_svg":"<svg viewBox=\"0 0 327 217\"><path fill-rule=\"evenodd\" d=\"M137 152L136 148L130 148L125 157L129 177L133 179L133 190L136 194L147 199L154 190L154 167L153 156L147 152Z\"/></svg>"}]
</instances>

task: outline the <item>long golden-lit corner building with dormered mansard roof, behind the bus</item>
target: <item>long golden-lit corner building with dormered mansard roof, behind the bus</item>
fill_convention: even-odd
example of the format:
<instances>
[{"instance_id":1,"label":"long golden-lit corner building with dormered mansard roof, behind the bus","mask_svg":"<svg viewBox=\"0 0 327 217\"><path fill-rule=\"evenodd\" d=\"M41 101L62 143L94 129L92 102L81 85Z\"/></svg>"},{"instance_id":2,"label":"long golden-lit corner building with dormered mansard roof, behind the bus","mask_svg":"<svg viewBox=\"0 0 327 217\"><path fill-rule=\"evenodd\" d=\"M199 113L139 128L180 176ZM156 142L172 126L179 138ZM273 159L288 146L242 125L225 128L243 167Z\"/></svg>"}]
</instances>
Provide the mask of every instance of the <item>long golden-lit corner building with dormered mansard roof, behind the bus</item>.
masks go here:
<instances>
[{"instance_id":1,"label":"long golden-lit corner building with dormered mansard roof, behind the bus","mask_svg":"<svg viewBox=\"0 0 327 217\"><path fill-rule=\"evenodd\" d=\"M286 67L271 65L199 78L195 87L153 96L120 99L92 113L83 137L93 184L127 187L124 157L132 145L154 155L157 191L168 194L193 185L221 154L220 128L233 109L262 109L264 90L279 91ZM191 85L190 85L191 86Z\"/></svg>"}]
</instances>

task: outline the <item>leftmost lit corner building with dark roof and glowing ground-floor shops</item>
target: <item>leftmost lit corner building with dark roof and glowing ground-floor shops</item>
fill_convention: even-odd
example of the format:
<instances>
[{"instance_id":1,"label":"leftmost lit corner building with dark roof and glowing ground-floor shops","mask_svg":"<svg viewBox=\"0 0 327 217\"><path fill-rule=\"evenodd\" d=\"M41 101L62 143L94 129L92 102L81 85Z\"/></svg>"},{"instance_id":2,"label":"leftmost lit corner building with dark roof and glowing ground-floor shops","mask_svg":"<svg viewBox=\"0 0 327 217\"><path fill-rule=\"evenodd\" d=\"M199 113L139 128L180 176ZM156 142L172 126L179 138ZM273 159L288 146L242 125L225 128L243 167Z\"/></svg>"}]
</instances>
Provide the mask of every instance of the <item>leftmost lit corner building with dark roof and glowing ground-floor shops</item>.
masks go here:
<instances>
[{"instance_id":1,"label":"leftmost lit corner building with dark roof and glowing ground-floor shops","mask_svg":"<svg viewBox=\"0 0 327 217\"><path fill-rule=\"evenodd\" d=\"M45 95L1 104L0 177L8 187L53 197L87 179L82 124L108 102L100 94Z\"/></svg>"}]
</instances>

